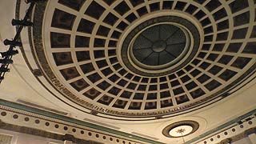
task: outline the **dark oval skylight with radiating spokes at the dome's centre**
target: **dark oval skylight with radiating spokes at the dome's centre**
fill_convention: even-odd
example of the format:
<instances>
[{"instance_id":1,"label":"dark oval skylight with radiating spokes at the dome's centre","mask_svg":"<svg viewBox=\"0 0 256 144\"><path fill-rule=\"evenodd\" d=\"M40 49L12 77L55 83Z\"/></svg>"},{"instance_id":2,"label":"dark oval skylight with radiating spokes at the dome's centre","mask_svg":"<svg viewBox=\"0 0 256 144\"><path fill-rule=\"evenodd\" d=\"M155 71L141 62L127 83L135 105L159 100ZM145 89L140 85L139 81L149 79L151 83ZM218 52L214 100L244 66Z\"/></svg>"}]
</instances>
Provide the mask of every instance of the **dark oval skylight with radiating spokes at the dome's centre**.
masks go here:
<instances>
[{"instance_id":1,"label":"dark oval skylight with radiating spokes at the dome's centre","mask_svg":"<svg viewBox=\"0 0 256 144\"><path fill-rule=\"evenodd\" d=\"M158 24L146 28L134 38L131 53L138 63L154 69L154 66L173 62L185 46L186 35L182 29L171 24Z\"/></svg>"}]
</instances>

